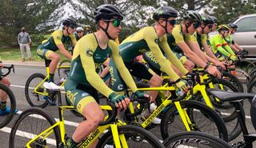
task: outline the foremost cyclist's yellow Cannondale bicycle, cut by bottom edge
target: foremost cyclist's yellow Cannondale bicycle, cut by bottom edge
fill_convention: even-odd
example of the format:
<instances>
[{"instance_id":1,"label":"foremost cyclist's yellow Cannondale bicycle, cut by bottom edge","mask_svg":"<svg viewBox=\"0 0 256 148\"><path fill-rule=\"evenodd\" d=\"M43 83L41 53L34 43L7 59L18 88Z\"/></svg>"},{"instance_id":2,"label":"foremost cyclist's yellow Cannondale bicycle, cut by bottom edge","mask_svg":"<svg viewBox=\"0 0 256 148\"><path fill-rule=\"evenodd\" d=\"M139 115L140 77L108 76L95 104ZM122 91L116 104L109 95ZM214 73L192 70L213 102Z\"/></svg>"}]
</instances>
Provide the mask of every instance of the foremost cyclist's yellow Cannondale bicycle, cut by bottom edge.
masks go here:
<instances>
[{"instance_id":1,"label":"foremost cyclist's yellow Cannondale bicycle, cut by bottom edge","mask_svg":"<svg viewBox=\"0 0 256 148\"><path fill-rule=\"evenodd\" d=\"M15 120L10 131L10 148L14 147L58 147L66 146L66 128L63 116L64 110L74 110L74 106L62 106L61 98L58 98L59 121L42 108L25 110ZM98 139L96 147L155 147L163 148L162 143L149 131L138 126L126 125L116 118L117 109L113 103L109 106L101 106L109 114L106 121L100 122L94 130L78 147L89 147Z\"/></svg>"}]
</instances>

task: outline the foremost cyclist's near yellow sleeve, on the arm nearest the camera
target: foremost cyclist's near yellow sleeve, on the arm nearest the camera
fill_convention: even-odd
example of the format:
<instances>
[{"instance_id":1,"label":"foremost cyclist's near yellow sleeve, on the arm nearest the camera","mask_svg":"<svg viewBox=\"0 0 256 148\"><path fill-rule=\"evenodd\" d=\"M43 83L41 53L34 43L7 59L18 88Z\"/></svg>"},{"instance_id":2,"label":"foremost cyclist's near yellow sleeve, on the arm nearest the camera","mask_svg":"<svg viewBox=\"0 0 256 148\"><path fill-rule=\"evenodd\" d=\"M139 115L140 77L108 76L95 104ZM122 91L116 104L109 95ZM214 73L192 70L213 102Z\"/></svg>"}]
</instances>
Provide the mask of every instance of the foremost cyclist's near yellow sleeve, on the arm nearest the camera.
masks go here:
<instances>
[{"instance_id":1,"label":"foremost cyclist's near yellow sleeve, on the arm nearest the camera","mask_svg":"<svg viewBox=\"0 0 256 148\"><path fill-rule=\"evenodd\" d=\"M108 97L114 91L106 86L102 78L96 72L93 54L97 48L97 41L93 35L83 38L79 44L75 46L75 50L79 50L82 68L86 74L87 81L93 86L98 92Z\"/></svg>"}]
</instances>

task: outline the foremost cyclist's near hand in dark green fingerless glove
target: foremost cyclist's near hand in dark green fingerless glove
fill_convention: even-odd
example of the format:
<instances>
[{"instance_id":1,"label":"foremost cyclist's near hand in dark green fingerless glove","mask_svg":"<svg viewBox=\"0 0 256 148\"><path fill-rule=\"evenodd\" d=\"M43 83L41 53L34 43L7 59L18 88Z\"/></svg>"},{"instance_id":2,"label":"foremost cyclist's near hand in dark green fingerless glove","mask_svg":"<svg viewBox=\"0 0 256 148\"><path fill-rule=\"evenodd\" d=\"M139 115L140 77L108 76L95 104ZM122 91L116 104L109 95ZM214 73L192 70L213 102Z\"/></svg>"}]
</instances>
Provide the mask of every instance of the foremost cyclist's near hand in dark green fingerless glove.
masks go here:
<instances>
[{"instance_id":1,"label":"foremost cyclist's near hand in dark green fingerless glove","mask_svg":"<svg viewBox=\"0 0 256 148\"><path fill-rule=\"evenodd\" d=\"M126 110L127 106L130 103L130 98L127 98L125 95L122 94L115 94L114 92L111 93L108 98L111 102L114 102L116 107L120 108L121 110Z\"/></svg>"}]
</instances>

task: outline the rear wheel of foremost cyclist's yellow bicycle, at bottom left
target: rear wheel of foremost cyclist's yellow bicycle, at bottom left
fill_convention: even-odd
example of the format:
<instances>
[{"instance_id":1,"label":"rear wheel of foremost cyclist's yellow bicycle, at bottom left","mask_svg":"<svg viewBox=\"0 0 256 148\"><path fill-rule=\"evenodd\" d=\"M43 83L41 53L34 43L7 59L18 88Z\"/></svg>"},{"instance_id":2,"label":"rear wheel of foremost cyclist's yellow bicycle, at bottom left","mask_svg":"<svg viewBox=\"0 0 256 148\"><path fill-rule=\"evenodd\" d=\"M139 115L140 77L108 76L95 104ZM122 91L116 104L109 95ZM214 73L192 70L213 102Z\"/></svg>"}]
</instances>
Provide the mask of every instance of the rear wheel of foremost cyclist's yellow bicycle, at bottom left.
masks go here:
<instances>
[{"instance_id":1,"label":"rear wheel of foremost cyclist's yellow bicycle, at bottom left","mask_svg":"<svg viewBox=\"0 0 256 148\"><path fill-rule=\"evenodd\" d=\"M41 108L30 108L25 110L15 120L12 129L10 130L9 146L26 147L27 142L34 138L42 131L55 124L55 120L50 113ZM54 132L52 132L54 130ZM46 132L47 138L40 137L30 144L31 147L58 147L61 142L60 131L58 126L53 130ZM52 132L50 134L50 132ZM44 134L44 135L46 135Z\"/></svg>"}]
</instances>

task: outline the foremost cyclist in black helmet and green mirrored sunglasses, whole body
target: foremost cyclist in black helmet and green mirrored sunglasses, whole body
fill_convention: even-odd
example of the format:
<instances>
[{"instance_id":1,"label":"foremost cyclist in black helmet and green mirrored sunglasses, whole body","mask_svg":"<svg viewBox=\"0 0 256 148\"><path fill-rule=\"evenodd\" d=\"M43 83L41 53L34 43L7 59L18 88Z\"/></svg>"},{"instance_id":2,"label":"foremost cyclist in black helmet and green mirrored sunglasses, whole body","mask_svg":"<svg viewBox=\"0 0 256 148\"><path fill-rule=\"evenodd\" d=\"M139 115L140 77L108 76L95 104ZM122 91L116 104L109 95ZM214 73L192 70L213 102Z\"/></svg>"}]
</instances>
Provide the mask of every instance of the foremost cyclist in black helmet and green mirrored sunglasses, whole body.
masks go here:
<instances>
[{"instance_id":1,"label":"foremost cyclist in black helmet and green mirrored sunglasses, whole body","mask_svg":"<svg viewBox=\"0 0 256 148\"><path fill-rule=\"evenodd\" d=\"M122 62L118 45L114 38L122 30L122 13L116 6L105 4L98 6L94 11L94 20L97 31L86 34L74 47L74 54L70 67L70 74L65 83L67 98L79 113L86 117L74 131L72 138L68 139L68 147L76 147L102 122L104 114L98 105L98 92L110 99L120 109L126 109L130 99L117 94L102 81L98 75L98 68L106 60L113 58L122 78L139 98L149 97L140 93L130 76L129 71ZM136 91L137 90L137 91Z\"/></svg>"}]
</instances>

